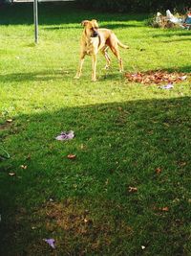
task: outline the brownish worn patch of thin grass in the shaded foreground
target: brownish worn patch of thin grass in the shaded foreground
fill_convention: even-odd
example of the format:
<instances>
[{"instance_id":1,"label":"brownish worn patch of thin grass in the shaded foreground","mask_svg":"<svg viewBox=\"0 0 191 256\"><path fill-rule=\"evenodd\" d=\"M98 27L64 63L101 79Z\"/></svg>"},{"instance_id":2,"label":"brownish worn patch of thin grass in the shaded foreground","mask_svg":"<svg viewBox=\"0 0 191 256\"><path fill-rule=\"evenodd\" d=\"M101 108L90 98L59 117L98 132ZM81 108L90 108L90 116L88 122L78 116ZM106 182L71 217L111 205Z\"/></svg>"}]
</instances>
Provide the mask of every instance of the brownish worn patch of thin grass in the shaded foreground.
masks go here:
<instances>
[{"instance_id":1,"label":"brownish worn patch of thin grass in the shaded foreground","mask_svg":"<svg viewBox=\"0 0 191 256\"><path fill-rule=\"evenodd\" d=\"M104 255L116 248L117 240L131 239L133 229L125 221L116 220L106 208L102 212L88 208L83 202L68 199L48 202L36 210L28 220L31 234L19 234L19 239L28 241L26 255ZM27 216L17 218L17 222L24 218L26 225ZM48 238L55 240L55 249L43 241Z\"/></svg>"}]
</instances>

